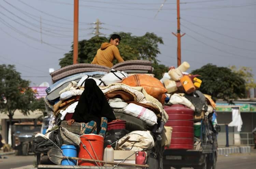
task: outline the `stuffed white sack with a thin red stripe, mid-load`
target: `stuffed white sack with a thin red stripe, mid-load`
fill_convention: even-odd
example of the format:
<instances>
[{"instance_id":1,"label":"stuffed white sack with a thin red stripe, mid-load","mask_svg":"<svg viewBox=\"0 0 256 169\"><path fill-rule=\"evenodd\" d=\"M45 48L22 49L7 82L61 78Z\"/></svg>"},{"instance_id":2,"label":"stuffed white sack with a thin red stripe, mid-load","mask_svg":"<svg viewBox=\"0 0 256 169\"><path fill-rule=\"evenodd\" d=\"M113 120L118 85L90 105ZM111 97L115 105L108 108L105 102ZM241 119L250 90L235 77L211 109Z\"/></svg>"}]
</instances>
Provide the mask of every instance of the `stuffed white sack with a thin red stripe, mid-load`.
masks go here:
<instances>
[{"instance_id":1,"label":"stuffed white sack with a thin red stripe, mid-load","mask_svg":"<svg viewBox=\"0 0 256 169\"><path fill-rule=\"evenodd\" d=\"M156 114L142 106L130 103L126 108L123 109L125 114L137 117L144 121L148 126L154 126L157 124Z\"/></svg>"}]
</instances>

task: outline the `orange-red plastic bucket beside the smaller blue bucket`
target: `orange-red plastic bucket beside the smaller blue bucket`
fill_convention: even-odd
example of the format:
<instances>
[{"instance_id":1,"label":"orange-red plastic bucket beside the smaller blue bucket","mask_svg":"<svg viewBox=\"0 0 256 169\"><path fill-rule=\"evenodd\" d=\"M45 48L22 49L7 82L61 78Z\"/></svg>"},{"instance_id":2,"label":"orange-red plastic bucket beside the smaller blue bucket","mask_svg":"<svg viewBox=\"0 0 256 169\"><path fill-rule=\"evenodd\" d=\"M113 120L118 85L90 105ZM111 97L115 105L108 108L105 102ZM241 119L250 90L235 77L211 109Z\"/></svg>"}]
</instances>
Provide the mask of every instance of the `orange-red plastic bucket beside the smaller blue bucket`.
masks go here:
<instances>
[{"instance_id":1,"label":"orange-red plastic bucket beside the smaller blue bucket","mask_svg":"<svg viewBox=\"0 0 256 169\"><path fill-rule=\"evenodd\" d=\"M80 136L81 142L80 143L80 151L78 154L79 158L87 158L87 159L99 159L103 160L103 145L104 145L104 138L97 134L83 134ZM83 147L86 147L86 149ZM98 157L98 158L97 158ZM79 166L97 166L95 162L86 162L86 161L78 161ZM98 165L100 165L98 163Z\"/></svg>"}]
</instances>

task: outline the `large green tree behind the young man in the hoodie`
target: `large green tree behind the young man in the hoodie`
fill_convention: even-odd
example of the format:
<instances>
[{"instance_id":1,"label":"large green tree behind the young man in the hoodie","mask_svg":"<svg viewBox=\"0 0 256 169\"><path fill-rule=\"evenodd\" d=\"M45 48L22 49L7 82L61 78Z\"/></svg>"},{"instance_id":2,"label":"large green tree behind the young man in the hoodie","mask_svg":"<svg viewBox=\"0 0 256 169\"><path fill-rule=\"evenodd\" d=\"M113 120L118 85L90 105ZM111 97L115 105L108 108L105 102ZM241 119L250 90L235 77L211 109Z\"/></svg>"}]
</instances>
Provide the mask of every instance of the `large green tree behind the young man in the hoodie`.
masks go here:
<instances>
[{"instance_id":1,"label":"large green tree behind the young man in the hoodie","mask_svg":"<svg viewBox=\"0 0 256 169\"><path fill-rule=\"evenodd\" d=\"M158 44L163 44L162 38L154 33L146 33L143 36L132 36L131 33L116 33L122 37L121 43L118 45L120 55L124 60L150 60L153 67L157 70L156 77L161 78L168 68L165 65L159 65L157 55L160 54ZM102 36L94 36L89 40L79 41L78 63L91 63L97 50L103 42L108 42L109 38ZM114 62L114 64L116 61ZM73 64L73 45L71 51L66 53L60 59L59 65L65 67Z\"/></svg>"}]
</instances>

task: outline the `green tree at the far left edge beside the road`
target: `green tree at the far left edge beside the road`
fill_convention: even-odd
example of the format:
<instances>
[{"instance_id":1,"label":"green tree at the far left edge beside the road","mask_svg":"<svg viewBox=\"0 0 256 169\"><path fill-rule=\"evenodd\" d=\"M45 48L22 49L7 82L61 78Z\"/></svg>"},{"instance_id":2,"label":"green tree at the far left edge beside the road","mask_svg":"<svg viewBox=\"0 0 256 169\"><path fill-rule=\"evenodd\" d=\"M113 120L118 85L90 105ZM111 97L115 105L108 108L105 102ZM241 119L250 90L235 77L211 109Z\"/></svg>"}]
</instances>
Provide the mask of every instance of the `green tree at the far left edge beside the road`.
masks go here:
<instances>
[{"instance_id":1,"label":"green tree at the far left edge beside the road","mask_svg":"<svg viewBox=\"0 0 256 169\"><path fill-rule=\"evenodd\" d=\"M0 65L0 113L5 113L12 125L15 110L24 115L29 114L31 102L35 100L34 92L29 88L29 81L20 77L14 65Z\"/></svg>"}]
</instances>

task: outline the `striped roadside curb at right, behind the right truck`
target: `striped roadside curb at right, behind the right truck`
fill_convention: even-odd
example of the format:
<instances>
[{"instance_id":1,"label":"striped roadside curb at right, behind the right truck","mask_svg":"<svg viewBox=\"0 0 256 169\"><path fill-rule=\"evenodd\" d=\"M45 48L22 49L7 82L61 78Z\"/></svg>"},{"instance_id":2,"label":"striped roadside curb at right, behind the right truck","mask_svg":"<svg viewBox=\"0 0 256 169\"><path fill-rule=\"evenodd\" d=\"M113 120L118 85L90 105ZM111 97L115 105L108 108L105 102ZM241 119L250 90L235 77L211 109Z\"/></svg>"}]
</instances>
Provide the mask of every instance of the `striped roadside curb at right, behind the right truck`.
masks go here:
<instances>
[{"instance_id":1,"label":"striped roadside curb at right, behind the right truck","mask_svg":"<svg viewBox=\"0 0 256 169\"><path fill-rule=\"evenodd\" d=\"M250 146L240 146L240 147L225 147L218 148L218 155L227 155L233 153L251 153Z\"/></svg>"}]
</instances>

